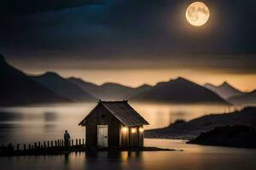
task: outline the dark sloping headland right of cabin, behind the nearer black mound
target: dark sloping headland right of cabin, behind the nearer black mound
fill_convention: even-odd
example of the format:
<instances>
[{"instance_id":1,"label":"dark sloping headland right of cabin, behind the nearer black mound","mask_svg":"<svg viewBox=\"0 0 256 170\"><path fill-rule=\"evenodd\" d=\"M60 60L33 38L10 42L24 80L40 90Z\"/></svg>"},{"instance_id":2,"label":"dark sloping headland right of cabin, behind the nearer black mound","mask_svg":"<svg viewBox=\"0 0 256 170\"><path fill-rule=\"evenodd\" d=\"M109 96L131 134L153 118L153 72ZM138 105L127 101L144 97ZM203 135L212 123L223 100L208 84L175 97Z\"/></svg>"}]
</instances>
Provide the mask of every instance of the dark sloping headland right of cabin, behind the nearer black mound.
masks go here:
<instances>
[{"instance_id":1,"label":"dark sloping headland right of cabin, behind the nearer black mound","mask_svg":"<svg viewBox=\"0 0 256 170\"><path fill-rule=\"evenodd\" d=\"M246 125L256 128L256 107L226 114L201 116L189 122L173 123L169 127L145 131L147 138L193 139L215 127Z\"/></svg>"}]
</instances>

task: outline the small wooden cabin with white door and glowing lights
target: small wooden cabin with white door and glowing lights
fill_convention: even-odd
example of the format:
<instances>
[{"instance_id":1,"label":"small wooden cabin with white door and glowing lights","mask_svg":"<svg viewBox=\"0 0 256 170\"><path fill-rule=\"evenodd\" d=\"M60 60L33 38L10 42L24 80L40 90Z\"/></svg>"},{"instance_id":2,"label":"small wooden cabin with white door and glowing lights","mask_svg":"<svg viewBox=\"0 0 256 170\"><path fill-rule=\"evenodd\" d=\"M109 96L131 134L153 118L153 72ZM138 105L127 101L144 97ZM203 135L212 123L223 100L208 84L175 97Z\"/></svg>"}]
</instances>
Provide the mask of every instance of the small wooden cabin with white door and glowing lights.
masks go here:
<instances>
[{"instance_id":1,"label":"small wooden cabin with white door and glowing lights","mask_svg":"<svg viewBox=\"0 0 256 170\"><path fill-rule=\"evenodd\" d=\"M86 147L143 147L143 125L148 122L127 100L99 101L79 123L85 127Z\"/></svg>"}]
</instances>

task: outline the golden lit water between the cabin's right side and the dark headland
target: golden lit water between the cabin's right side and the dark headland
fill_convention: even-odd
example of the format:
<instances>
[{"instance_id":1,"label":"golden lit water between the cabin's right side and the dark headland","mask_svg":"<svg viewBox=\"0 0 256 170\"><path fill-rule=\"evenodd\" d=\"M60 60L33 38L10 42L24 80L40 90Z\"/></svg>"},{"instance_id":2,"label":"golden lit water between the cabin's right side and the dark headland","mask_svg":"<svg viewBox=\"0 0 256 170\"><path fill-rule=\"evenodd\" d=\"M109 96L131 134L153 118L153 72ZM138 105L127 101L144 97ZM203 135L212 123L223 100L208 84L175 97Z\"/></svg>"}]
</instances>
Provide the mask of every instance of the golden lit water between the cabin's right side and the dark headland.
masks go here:
<instances>
[{"instance_id":1,"label":"golden lit water between the cabin's right side and the dark headland","mask_svg":"<svg viewBox=\"0 0 256 170\"><path fill-rule=\"evenodd\" d=\"M234 111L234 108L224 105L172 105L131 103L131 105L149 122L146 129L166 127L170 123L183 119L189 121L209 114Z\"/></svg>"}]
</instances>

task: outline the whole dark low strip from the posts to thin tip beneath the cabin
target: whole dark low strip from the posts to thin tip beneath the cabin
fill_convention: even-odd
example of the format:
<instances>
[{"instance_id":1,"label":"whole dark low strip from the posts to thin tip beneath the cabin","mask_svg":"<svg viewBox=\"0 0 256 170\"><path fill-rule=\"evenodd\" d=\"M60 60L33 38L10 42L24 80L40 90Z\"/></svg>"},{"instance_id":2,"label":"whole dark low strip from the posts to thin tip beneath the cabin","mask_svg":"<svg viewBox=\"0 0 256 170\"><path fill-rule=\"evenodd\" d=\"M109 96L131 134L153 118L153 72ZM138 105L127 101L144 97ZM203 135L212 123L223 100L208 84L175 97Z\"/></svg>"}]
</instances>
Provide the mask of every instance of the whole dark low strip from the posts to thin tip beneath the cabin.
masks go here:
<instances>
[{"instance_id":1,"label":"whole dark low strip from the posts to thin tip beneath the cabin","mask_svg":"<svg viewBox=\"0 0 256 170\"><path fill-rule=\"evenodd\" d=\"M84 139L71 139L68 146L65 146L63 139L51 141L39 141L33 144L7 144L0 145L1 156L45 156L45 155L62 155L71 152L81 151L183 151L172 150L158 147L134 147L134 148L86 148Z\"/></svg>"}]
</instances>

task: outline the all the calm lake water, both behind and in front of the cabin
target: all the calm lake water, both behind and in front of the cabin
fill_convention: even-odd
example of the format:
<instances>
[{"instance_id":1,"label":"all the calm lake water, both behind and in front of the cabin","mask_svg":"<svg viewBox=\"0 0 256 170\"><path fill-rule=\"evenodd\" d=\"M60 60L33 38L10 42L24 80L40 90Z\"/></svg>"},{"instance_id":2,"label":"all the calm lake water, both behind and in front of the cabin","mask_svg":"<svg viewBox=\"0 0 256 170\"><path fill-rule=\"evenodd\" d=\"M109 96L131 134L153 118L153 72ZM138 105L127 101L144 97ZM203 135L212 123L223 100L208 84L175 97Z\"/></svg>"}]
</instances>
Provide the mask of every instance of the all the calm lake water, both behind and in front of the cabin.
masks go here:
<instances>
[{"instance_id":1,"label":"all the calm lake water, both behind and in front of the cabin","mask_svg":"<svg viewBox=\"0 0 256 170\"><path fill-rule=\"evenodd\" d=\"M62 138L83 138L80 120L95 104L44 105L1 108L0 143L32 143ZM218 105L132 104L150 123L146 128L166 127L177 119L230 111ZM1 157L0 169L256 169L256 150L185 144L182 140L145 139L145 145L184 151L72 153L66 156Z\"/></svg>"}]
</instances>

